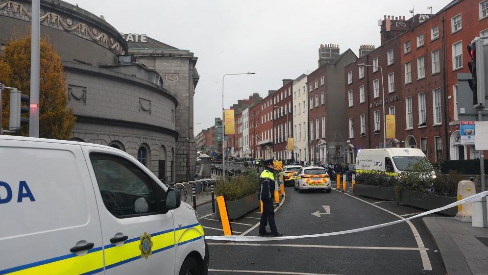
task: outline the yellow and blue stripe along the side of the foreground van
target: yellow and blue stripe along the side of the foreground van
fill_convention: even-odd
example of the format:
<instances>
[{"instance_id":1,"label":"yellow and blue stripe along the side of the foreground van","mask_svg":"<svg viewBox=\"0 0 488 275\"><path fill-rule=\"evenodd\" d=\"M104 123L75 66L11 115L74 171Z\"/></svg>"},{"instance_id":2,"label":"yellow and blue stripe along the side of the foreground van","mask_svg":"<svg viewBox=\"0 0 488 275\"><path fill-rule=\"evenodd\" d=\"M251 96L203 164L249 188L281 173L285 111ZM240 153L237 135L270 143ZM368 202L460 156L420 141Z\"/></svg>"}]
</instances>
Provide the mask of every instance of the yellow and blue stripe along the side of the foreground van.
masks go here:
<instances>
[{"instance_id":1,"label":"yellow and blue stripe along the side of the foreground van","mask_svg":"<svg viewBox=\"0 0 488 275\"><path fill-rule=\"evenodd\" d=\"M187 229L187 230L184 230ZM187 225L151 234L152 254L172 249L205 238L200 224ZM93 248L83 256L76 253L33 262L13 268L0 270L0 275L91 275L102 272L103 251L105 251L105 269L111 269L141 258L140 237L128 239L122 246L106 245Z\"/></svg>"}]
</instances>

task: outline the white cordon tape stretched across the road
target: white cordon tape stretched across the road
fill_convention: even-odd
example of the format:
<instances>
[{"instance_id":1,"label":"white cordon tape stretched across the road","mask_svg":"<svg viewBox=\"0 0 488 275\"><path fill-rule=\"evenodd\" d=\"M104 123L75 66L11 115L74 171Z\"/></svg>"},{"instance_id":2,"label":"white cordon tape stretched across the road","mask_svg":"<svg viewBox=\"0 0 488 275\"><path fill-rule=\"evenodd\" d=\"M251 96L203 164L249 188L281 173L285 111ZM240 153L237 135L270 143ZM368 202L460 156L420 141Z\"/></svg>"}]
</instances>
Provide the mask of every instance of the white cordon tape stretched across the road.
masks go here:
<instances>
[{"instance_id":1,"label":"white cordon tape stretched across the road","mask_svg":"<svg viewBox=\"0 0 488 275\"><path fill-rule=\"evenodd\" d=\"M276 241L276 240L292 240L292 239L303 239L303 238L315 238L315 237L325 237L325 236L334 236L334 235L342 235L342 234L349 234L349 233L355 233L355 232L361 232L361 231L366 231L366 230L371 230L371 229L376 229L380 227L385 227L388 225L395 225L399 224L402 222L406 222L415 218L419 218L422 216L426 216L432 213L436 213L454 206L457 206L459 204L462 204L464 202L469 202L473 200L477 200L480 198L483 198L488 195L488 191L484 191L481 193L478 193L476 195L473 195L471 197L467 197L463 200L458 200L456 202L453 202L451 204L447 204L446 206L442 206L436 209L432 209L426 212L423 212L421 214L417 214L415 216L405 218L405 219L400 219L397 221L393 221L390 223L385 223L381 225L371 225L371 226L366 226L366 227L361 227L361 228L356 228L356 229L350 229L350 230L343 230L343 231L337 231L337 232L329 232L329 233L321 233L321 234L312 234L312 235L299 235L299 236L286 236L286 237L258 237L258 236L205 236L206 240L214 240L214 241L241 241L241 242L263 242L263 241Z\"/></svg>"}]
</instances>

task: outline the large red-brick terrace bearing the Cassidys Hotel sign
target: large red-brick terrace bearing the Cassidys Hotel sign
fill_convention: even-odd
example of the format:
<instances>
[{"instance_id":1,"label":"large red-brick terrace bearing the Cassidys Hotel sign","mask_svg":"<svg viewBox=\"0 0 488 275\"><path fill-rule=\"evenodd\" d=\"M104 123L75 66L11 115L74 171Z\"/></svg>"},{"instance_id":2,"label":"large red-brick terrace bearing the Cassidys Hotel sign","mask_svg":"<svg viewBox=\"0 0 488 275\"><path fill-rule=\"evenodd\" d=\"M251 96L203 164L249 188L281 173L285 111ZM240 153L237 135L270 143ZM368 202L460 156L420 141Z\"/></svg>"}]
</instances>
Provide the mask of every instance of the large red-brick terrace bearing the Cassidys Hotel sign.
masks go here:
<instances>
[{"instance_id":1,"label":"large red-brick terrace bearing the Cassidys Hotel sign","mask_svg":"<svg viewBox=\"0 0 488 275\"><path fill-rule=\"evenodd\" d=\"M435 15L384 17L382 45L345 70L349 162L359 149L383 147L382 80L385 111L396 123L386 147L419 148L432 162L477 156L459 142L457 76L469 72L466 45L488 33L487 13L488 0L454 0ZM382 67L383 79L381 69L362 63Z\"/></svg>"}]
</instances>

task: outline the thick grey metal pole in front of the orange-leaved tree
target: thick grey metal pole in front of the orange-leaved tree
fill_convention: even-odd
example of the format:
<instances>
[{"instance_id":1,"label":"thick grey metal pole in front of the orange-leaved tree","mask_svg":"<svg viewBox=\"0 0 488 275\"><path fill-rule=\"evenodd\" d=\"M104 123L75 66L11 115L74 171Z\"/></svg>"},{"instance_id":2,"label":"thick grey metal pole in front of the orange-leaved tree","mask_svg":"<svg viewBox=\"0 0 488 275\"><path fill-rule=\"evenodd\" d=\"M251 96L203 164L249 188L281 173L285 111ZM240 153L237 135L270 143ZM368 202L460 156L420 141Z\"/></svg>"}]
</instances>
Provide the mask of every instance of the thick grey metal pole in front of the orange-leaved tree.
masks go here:
<instances>
[{"instance_id":1,"label":"thick grey metal pole in front of the orange-leaved tree","mask_svg":"<svg viewBox=\"0 0 488 275\"><path fill-rule=\"evenodd\" d=\"M29 136L39 137L39 2L32 0L32 27L30 39L30 105Z\"/></svg>"}]
</instances>

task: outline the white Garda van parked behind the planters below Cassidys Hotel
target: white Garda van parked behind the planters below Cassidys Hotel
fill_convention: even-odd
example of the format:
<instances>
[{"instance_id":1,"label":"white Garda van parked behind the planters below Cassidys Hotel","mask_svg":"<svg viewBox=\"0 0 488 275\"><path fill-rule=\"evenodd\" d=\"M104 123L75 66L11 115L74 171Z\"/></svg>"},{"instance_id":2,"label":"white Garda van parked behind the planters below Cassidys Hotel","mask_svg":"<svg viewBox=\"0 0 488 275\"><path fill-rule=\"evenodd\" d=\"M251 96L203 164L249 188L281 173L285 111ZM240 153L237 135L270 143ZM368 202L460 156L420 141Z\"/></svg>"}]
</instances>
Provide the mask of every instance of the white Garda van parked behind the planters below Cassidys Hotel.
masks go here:
<instances>
[{"instance_id":1,"label":"white Garda van parked behind the planters below Cassidys Hotel","mask_svg":"<svg viewBox=\"0 0 488 275\"><path fill-rule=\"evenodd\" d=\"M436 177L425 154L415 148L361 149L356 157L356 173L381 171L388 175L398 175L416 163L426 165L425 168L431 171L430 175Z\"/></svg>"}]
</instances>

